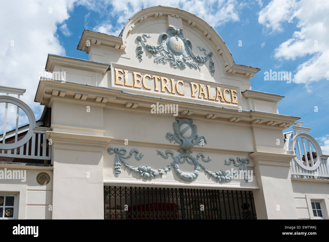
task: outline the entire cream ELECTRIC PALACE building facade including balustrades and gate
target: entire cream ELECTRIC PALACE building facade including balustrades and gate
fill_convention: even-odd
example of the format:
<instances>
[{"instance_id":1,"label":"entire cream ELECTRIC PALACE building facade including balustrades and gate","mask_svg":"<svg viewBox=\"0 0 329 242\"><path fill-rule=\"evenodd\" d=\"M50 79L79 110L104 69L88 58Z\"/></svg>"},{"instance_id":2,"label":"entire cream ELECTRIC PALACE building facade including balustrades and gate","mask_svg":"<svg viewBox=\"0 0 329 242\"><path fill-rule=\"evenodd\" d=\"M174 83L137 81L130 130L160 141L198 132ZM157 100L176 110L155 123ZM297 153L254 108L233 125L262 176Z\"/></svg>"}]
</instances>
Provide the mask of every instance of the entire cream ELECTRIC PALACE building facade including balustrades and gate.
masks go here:
<instances>
[{"instance_id":1,"label":"entire cream ELECTRIC PALACE building facade including balustrades and gate","mask_svg":"<svg viewBox=\"0 0 329 242\"><path fill-rule=\"evenodd\" d=\"M311 129L279 113L284 96L251 90L260 69L204 20L150 7L119 37L84 30L77 49L89 60L48 55L40 120L25 90L1 87L29 125L1 136L0 219L329 218Z\"/></svg>"}]
</instances>

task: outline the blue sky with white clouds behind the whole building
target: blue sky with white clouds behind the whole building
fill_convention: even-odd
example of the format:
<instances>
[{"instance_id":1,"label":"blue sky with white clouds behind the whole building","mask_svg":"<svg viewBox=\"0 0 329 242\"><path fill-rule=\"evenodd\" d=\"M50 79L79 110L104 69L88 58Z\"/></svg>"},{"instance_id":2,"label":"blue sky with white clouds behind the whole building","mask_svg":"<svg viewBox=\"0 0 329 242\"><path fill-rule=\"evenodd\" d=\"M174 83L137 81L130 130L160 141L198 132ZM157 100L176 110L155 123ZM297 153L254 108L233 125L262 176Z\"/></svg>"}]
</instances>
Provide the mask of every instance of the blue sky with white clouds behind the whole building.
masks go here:
<instances>
[{"instance_id":1,"label":"blue sky with white clouds behind the whole building","mask_svg":"<svg viewBox=\"0 0 329 242\"><path fill-rule=\"evenodd\" d=\"M300 121L305 122L303 126L312 128L311 134L318 138L320 145L329 154L329 127L327 125L329 101L326 98L329 79L327 43L329 6L327 2L322 0L193 0L190 2L168 0L166 5L182 8L206 20L226 42L236 63L261 68L251 79L252 89L284 95L285 98L278 103L279 112L301 117ZM13 48L2 50L0 57L6 57L7 60L10 58L17 62L17 65L27 65L26 68L34 68L34 70L44 68L47 53L88 59L88 54L76 49L84 29L117 36L134 12L149 6L163 5L162 1L157 0L133 2L59 0L36 1L32 7L22 6L20 10L17 6L13 6L14 3L7 4L9 9L12 8L13 12L16 12L15 16L19 15L20 11L25 11L23 15L27 15L26 12L29 11L33 12L32 16L29 16L30 19L29 17L23 19L23 25L27 21L28 27L22 29L22 35L24 31L26 34L28 31L41 32L40 36L37 35L38 41L41 42L34 43L34 46L30 47L23 48L23 46L20 49L20 52L27 52L27 56L36 54L35 62L22 62L22 53L20 55L13 53ZM49 7L52 8L52 14L45 13ZM6 27L0 27L0 30L5 31L6 41L16 36L16 42L19 43L19 38L22 38L10 33L18 32L22 28L18 20L13 19L12 23L9 21L9 33L6 32ZM31 21L30 24L29 21ZM239 40L242 41L242 46L239 46ZM31 41L33 45L33 39L27 38L24 41L26 44ZM314 41L317 42L317 46ZM31 53L28 52L29 48ZM7 65L8 63L0 62L0 64ZM29 66L33 64L34 67ZM270 69L291 72L293 82L265 81L264 72ZM29 73L28 69L27 72ZM1 71L1 74L13 76L13 72L6 73L5 69ZM32 89L27 94L29 100L24 101L29 105L34 105L33 109L38 119L41 108L31 103L38 84L36 71L33 75L35 75L34 79L29 78L24 82L27 89ZM13 85L9 78L5 80L1 85ZM17 82L16 86L20 87L21 84L22 82ZM317 112L315 112L315 106L317 106ZM287 129L285 132L290 130Z\"/></svg>"}]
</instances>

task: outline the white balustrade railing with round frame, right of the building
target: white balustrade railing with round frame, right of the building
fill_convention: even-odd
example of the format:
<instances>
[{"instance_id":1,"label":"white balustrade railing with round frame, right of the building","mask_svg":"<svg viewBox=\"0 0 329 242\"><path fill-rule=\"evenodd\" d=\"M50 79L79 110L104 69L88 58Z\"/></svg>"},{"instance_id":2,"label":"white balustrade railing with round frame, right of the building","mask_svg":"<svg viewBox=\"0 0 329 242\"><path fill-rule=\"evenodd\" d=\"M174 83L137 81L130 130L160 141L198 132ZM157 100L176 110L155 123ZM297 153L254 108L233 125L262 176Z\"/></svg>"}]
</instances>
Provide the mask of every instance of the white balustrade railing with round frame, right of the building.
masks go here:
<instances>
[{"instance_id":1,"label":"white balustrade railing with round frame, right of the building","mask_svg":"<svg viewBox=\"0 0 329 242\"><path fill-rule=\"evenodd\" d=\"M289 150L290 148L296 155L296 157L290 161L291 176L298 178L328 179L329 156L322 154L321 147L316 139L308 134L311 129L301 127L302 123L303 122L298 122L296 124L297 126L293 126L293 132L284 133L286 149Z\"/></svg>"}]
</instances>

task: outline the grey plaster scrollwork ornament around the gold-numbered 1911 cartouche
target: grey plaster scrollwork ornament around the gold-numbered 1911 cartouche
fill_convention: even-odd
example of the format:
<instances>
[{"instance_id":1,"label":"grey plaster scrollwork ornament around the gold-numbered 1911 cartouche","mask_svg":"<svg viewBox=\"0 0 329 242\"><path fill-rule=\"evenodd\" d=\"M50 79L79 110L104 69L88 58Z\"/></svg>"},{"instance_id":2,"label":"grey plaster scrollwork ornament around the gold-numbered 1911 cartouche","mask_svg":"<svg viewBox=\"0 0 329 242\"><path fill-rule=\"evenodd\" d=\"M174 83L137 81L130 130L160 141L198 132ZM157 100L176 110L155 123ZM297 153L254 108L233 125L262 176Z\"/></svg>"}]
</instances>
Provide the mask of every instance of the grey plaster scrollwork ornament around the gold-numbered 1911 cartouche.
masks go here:
<instances>
[{"instance_id":1,"label":"grey plaster scrollwork ornament around the gold-numbered 1911 cartouche","mask_svg":"<svg viewBox=\"0 0 329 242\"><path fill-rule=\"evenodd\" d=\"M196 55L192 51L192 42L184 38L182 30L169 27L165 33L160 34L158 40L160 45L146 44L147 38L151 38L150 35L143 34L137 36L137 56L138 60L142 61L143 49L153 54L155 63L170 63L174 68L185 69L186 66L190 69L200 69L200 64L204 64L209 61L209 70L211 75L215 74L215 66L212 60L213 53L206 53L205 48L198 46L200 51L205 54Z\"/></svg>"}]
</instances>

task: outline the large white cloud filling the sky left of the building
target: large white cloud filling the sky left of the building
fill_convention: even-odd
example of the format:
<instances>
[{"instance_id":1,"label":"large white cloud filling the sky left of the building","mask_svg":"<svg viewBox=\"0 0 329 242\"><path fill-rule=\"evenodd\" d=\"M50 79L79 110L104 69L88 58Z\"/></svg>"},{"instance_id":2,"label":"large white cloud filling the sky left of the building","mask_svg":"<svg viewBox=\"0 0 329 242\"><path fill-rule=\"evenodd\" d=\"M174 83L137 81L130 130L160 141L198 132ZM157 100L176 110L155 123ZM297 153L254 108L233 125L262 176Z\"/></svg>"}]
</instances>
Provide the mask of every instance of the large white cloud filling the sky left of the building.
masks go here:
<instances>
[{"instance_id":1,"label":"large white cloud filling the sky left of the building","mask_svg":"<svg viewBox=\"0 0 329 242\"><path fill-rule=\"evenodd\" d=\"M4 1L1 8L6 11L0 15L0 85L25 88L21 99L38 119L43 109L34 102L39 72L48 53L65 55L56 31L57 24L69 17L72 1Z\"/></svg>"}]
</instances>

